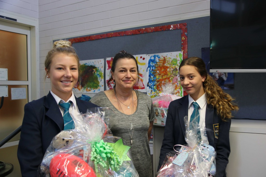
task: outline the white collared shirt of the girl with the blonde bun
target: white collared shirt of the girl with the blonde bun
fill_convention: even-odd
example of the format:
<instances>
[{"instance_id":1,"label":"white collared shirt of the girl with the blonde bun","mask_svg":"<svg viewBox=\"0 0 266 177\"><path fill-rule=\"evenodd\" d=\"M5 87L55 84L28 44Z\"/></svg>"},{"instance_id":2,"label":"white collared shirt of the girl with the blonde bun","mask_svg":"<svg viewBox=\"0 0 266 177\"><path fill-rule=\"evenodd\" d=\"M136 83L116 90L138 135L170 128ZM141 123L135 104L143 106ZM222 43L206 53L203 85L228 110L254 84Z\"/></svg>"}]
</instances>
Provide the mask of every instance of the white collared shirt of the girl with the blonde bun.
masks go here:
<instances>
[{"instance_id":1,"label":"white collared shirt of the girl with the blonde bun","mask_svg":"<svg viewBox=\"0 0 266 177\"><path fill-rule=\"evenodd\" d=\"M65 102L64 100L62 100L61 98L59 98L56 94L54 94L52 92L52 90L50 90L52 96L55 98L55 101L57 104L59 103L68 103L69 101L72 101L73 104L70 105L69 107L69 114L71 115L72 119L78 115L80 115L80 111L78 110L78 106L77 106L77 103L76 103L76 99L75 99L75 96L74 96L74 93L72 92L72 95L71 97ZM64 109L62 107L60 107L58 105L61 113L62 113L62 116L64 115Z\"/></svg>"}]
</instances>

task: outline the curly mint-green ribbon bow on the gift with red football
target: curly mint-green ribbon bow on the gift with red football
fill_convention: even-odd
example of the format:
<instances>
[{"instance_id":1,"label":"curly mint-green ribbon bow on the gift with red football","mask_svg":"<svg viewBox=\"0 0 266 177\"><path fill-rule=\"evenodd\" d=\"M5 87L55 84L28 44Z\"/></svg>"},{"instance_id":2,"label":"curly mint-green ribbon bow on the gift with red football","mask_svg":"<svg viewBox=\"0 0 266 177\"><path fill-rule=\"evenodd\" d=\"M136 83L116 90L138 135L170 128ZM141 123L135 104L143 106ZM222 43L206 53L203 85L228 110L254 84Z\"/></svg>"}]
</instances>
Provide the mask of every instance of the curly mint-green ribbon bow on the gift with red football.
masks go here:
<instances>
[{"instance_id":1,"label":"curly mint-green ribbon bow on the gift with red football","mask_svg":"<svg viewBox=\"0 0 266 177\"><path fill-rule=\"evenodd\" d=\"M109 165L111 170L114 171L118 171L120 169L120 159L117 153L114 151L113 147L111 147L107 143L104 143L103 140L92 143L91 147L92 151L90 153L90 160L93 161L95 172L99 171L97 167L98 164L103 168L106 168L107 165ZM108 168L106 169L108 170Z\"/></svg>"}]
</instances>

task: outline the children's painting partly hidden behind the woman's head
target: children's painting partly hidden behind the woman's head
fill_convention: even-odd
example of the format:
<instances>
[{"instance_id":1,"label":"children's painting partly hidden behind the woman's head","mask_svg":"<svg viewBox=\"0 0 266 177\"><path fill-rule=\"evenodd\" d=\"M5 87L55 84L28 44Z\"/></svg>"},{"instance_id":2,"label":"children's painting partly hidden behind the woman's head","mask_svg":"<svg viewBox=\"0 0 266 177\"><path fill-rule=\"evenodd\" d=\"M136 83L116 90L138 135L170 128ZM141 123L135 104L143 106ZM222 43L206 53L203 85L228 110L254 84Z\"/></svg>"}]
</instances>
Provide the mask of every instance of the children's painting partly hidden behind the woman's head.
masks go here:
<instances>
[{"instance_id":1,"label":"children's painting partly hidden behind the woman's head","mask_svg":"<svg viewBox=\"0 0 266 177\"><path fill-rule=\"evenodd\" d=\"M135 90L139 90L140 92L146 92L147 91L147 81L146 81L146 63L147 63L147 55L133 55L137 62L139 67L139 80L137 84L133 87ZM112 80L107 84L107 81L111 77L111 66L113 63L113 57L106 58L106 69L105 69L105 80L106 80L106 90L112 89L114 86L114 81Z\"/></svg>"}]
</instances>

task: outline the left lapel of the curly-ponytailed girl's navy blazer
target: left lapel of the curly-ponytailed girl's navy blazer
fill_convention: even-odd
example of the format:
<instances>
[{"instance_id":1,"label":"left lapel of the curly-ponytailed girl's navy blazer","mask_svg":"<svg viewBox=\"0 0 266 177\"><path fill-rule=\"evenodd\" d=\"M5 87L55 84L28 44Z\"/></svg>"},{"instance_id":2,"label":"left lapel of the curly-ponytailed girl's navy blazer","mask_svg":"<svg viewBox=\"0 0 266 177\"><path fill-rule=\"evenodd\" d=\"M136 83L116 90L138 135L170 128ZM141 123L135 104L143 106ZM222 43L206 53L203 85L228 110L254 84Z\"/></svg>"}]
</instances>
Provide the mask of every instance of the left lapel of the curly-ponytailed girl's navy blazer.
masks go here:
<instances>
[{"instance_id":1,"label":"left lapel of the curly-ponytailed girl's navy blazer","mask_svg":"<svg viewBox=\"0 0 266 177\"><path fill-rule=\"evenodd\" d=\"M181 129L185 137L186 127L185 127L184 117L188 115L188 96L183 97L183 98L184 99L180 99L179 101L180 106L177 107L177 110L178 110L178 117L179 117Z\"/></svg>"}]
</instances>

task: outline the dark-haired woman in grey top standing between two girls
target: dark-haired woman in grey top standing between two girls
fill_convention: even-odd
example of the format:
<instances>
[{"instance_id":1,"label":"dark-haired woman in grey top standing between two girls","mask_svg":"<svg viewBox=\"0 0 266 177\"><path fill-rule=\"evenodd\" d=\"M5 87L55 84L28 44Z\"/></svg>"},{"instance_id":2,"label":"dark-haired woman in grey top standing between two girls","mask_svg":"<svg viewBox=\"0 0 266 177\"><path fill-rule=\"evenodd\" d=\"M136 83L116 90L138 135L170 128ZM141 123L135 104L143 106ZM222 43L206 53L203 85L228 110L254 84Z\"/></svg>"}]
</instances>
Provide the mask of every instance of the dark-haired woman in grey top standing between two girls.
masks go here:
<instances>
[{"instance_id":1,"label":"dark-haired woman in grey top standing between two girls","mask_svg":"<svg viewBox=\"0 0 266 177\"><path fill-rule=\"evenodd\" d=\"M113 89L99 92L90 102L113 110L110 113L111 131L131 146L139 176L152 177L149 137L155 114L151 98L133 89L138 78L135 57L122 50L113 59L111 78L107 81L108 85L114 83Z\"/></svg>"}]
</instances>

